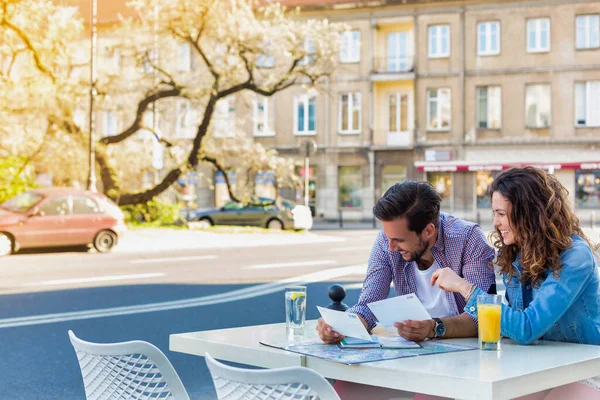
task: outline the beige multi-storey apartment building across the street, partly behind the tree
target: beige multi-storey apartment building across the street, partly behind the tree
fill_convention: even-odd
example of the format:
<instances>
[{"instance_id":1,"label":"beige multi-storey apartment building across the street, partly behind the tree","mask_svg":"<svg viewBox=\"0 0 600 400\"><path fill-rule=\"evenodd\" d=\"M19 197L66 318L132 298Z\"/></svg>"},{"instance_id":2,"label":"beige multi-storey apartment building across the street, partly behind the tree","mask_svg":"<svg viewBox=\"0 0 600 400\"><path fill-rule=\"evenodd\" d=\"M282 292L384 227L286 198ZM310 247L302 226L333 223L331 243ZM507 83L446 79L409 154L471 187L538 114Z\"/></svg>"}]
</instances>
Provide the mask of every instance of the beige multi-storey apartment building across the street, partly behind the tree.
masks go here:
<instances>
[{"instance_id":1,"label":"beige multi-storey apartment building across the street, partly behind the tree","mask_svg":"<svg viewBox=\"0 0 600 400\"><path fill-rule=\"evenodd\" d=\"M316 89L224 99L216 118L224 135L243 121L254 140L294 159L317 216L370 218L393 183L426 179L445 211L486 219L487 187L516 165L556 174L580 216L600 208L600 3L281 2L349 26L335 73ZM160 127L186 139L193 110L180 103ZM109 113L101 126L119 123ZM203 172L212 185L188 180L197 203L222 204L222 177ZM275 193L272 174L256 186ZM304 202L303 187L282 194Z\"/></svg>"}]
</instances>

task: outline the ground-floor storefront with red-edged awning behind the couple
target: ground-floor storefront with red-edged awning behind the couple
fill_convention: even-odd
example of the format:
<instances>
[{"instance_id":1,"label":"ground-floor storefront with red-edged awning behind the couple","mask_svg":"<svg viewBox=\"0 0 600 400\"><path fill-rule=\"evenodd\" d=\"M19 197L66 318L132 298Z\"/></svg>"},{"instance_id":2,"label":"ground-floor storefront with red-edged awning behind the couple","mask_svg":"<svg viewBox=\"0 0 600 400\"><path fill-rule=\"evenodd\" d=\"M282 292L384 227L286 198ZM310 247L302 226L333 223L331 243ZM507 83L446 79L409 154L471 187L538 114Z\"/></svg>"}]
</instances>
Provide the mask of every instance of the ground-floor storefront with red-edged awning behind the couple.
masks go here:
<instances>
[{"instance_id":1,"label":"ground-floor storefront with red-edged awning behind the couple","mask_svg":"<svg viewBox=\"0 0 600 400\"><path fill-rule=\"evenodd\" d=\"M472 220L491 220L489 187L500 171L534 166L554 174L569 191L580 216L600 209L600 162L473 163L469 161L417 161L420 179L427 180L442 196L442 209Z\"/></svg>"}]
</instances>

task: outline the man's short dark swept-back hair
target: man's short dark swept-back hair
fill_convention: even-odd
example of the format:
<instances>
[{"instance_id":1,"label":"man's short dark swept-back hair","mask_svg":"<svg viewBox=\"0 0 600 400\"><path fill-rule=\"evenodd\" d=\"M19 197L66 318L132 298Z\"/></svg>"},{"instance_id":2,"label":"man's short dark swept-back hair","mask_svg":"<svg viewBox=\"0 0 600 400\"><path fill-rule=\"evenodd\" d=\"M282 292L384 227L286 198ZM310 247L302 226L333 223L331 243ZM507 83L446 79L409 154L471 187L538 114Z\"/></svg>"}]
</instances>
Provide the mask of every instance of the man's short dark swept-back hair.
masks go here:
<instances>
[{"instance_id":1,"label":"man's short dark swept-back hair","mask_svg":"<svg viewBox=\"0 0 600 400\"><path fill-rule=\"evenodd\" d=\"M406 181L396 183L377 200L373 215L381 221L406 218L408 229L419 235L429 223L437 228L441 202L441 196L429 182Z\"/></svg>"}]
</instances>

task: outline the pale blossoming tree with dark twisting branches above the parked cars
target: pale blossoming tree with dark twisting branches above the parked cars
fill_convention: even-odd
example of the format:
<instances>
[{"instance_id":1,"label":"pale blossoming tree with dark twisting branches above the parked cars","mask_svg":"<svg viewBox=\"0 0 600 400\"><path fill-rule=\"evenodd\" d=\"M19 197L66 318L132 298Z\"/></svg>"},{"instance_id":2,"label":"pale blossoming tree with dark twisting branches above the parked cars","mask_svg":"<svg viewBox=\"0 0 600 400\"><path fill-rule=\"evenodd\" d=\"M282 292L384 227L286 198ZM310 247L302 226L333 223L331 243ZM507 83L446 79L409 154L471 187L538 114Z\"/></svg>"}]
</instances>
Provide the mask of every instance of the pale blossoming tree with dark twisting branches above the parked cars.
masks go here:
<instances>
[{"instance_id":1,"label":"pale blossoming tree with dark twisting branches above the parked cars","mask_svg":"<svg viewBox=\"0 0 600 400\"><path fill-rule=\"evenodd\" d=\"M334 68L342 27L257 0L134 0L129 6L136 16L115 27L110 44L101 49L103 55L118 55L123 67L101 69L95 85L97 107L125 116L120 131L95 146L103 190L122 205L145 203L201 162L224 173L234 199L227 170L273 170L280 181L292 177L291 162L235 127L230 138L214 137L217 103L318 84ZM37 157L37 165L42 159L58 161L61 171L81 179L88 136L77 119L89 91L83 24L72 9L47 0L0 0L0 7L0 54L9 60L3 61L7 73L0 81L0 115L8 122L0 128L7 129L0 151L28 152ZM188 50L194 65L182 70L179 52ZM23 65L20 74L10 70L11 55ZM172 114L181 101L191 105L188 140L163 136L146 122L148 116L153 120ZM156 117L153 107L159 110ZM28 130L32 133L18 134ZM167 150L168 172L155 186L132 190L124 180L151 168L151 157L139 151L151 136Z\"/></svg>"}]
</instances>

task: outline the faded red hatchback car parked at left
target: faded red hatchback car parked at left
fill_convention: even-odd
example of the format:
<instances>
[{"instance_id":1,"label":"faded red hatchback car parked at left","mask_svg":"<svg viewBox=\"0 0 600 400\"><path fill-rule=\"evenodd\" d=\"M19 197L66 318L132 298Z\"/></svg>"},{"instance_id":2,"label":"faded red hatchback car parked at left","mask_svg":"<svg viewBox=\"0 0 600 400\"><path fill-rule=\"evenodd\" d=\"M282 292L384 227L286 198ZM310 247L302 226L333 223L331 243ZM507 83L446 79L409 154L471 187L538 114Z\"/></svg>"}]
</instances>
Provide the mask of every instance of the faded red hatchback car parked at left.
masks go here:
<instances>
[{"instance_id":1,"label":"faded red hatchback car parked at left","mask_svg":"<svg viewBox=\"0 0 600 400\"><path fill-rule=\"evenodd\" d=\"M104 253L124 230L123 213L102 193L34 189L0 204L0 256L32 247L89 244Z\"/></svg>"}]
</instances>

